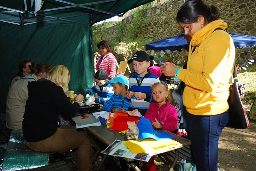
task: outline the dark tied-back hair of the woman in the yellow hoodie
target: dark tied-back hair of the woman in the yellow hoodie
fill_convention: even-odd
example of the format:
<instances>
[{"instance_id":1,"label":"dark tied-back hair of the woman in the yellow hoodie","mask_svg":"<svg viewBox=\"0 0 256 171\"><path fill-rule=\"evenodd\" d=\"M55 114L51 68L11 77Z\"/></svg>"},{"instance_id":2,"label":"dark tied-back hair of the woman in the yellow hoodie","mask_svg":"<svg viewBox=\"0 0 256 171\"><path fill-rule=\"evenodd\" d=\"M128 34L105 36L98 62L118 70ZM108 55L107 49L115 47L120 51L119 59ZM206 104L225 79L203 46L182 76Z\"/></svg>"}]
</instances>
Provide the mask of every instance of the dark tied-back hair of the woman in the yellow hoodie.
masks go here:
<instances>
[{"instance_id":1,"label":"dark tied-back hair of the woman in the yellow hoodie","mask_svg":"<svg viewBox=\"0 0 256 171\"><path fill-rule=\"evenodd\" d=\"M178 22L191 24L196 22L201 15L207 23L210 23L219 19L220 10L213 5L205 4L202 0L188 0L180 6L176 20Z\"/></svg>"}]
</instances>

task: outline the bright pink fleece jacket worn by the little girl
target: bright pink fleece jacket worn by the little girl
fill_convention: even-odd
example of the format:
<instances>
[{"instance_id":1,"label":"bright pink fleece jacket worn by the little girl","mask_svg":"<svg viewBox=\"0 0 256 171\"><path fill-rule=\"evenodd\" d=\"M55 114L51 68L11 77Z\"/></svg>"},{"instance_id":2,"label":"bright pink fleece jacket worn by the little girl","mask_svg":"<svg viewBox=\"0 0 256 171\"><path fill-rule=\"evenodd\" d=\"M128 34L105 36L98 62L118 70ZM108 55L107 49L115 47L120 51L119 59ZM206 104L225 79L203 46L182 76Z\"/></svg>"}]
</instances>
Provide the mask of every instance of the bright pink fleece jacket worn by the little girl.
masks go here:
<instances>
[{"instance_id":1,"label":"bright pink fleece jacket worn by the little girl","mask_svg":"<svg viewBox=\"0 0 256 171\"><path fill-rule=\"evenodd\" d=\"M178 124L177 110L169 102L167 105L162 105L160 109L158 103L152 102L144 118L149 119L151 123L155 122L156 118L159 122L163 123L162 129L170 132L174 131Z\"/></svg>"}]
</instances>

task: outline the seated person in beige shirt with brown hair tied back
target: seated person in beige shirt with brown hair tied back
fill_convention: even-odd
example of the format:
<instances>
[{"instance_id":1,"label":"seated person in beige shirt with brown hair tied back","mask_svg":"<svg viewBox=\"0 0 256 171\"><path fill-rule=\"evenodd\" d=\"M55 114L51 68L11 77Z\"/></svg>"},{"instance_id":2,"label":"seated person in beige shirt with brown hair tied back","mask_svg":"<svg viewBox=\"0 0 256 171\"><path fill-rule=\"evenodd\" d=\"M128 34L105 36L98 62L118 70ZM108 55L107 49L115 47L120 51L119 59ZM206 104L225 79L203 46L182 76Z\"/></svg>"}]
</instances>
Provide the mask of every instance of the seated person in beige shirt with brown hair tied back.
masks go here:
<instances>
[{"instance_id":1,"label":"seated person in beige shirt with brown hair tied back","mask_svg":"<svg viewBox=\"0 0 256 171\"><path fill-rule=\"evenodd\" d=\"M28 99L28 82L43 78L52 66L47 63L33 62L29 66L31 73L15 82L6 99L6 127L12 130L22 128L23 115Z\"/></svg>"}]
</instances>

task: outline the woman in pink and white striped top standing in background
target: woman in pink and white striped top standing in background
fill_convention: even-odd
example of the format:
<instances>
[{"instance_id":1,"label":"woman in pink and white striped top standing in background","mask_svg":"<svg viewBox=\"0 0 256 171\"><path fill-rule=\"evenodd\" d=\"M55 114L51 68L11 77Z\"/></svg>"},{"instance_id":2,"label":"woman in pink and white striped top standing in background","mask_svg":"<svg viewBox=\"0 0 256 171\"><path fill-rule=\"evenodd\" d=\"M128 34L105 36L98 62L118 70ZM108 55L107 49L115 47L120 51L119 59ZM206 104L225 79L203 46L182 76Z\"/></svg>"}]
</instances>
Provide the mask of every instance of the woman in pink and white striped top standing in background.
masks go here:
<instances>
[{"instance_id":1,"label":"woman in pink and white striped top standing in background","mask_svg":"<svg viewBox=\"0 0 256 171\"><path fill-rule=\"evenodd\" d=\"M111 47L108 41L102 40L97 44L101 56L96 62L96 69L103 69L108 74L108 80L111 80L116 75L116 57L111 53Z\"/></svg>"}]
</instances>

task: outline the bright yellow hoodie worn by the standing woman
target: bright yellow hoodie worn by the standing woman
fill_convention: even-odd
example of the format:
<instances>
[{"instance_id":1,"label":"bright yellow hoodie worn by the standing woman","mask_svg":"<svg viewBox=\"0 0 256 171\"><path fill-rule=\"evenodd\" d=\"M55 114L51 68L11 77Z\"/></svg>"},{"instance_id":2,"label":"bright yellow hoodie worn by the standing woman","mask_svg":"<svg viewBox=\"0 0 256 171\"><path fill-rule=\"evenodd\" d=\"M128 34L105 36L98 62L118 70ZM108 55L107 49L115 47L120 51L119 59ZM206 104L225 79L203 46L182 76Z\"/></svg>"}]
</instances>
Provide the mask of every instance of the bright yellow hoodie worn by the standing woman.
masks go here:
<instances>
[{"instance_id":1,"label":"bright yellow hoodie worn by the standing woman","mask_svg":"<svg viewBox=\"0 0 256 171\"><path fill-rule=\"evenodd\" d=\"M180 69L178 79L185 82L183 103L188 113L217 115L228 110L229 84L235 64L235 46L224 30L223 20L215 20L192 37L187 69ZM195 51L192 53L193 49Z\"/></svg>"}]
</instances>

